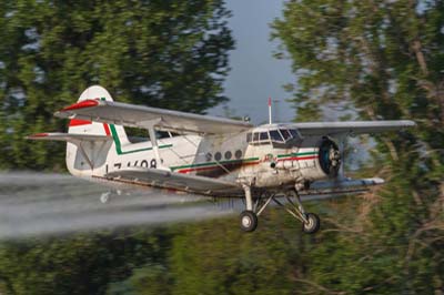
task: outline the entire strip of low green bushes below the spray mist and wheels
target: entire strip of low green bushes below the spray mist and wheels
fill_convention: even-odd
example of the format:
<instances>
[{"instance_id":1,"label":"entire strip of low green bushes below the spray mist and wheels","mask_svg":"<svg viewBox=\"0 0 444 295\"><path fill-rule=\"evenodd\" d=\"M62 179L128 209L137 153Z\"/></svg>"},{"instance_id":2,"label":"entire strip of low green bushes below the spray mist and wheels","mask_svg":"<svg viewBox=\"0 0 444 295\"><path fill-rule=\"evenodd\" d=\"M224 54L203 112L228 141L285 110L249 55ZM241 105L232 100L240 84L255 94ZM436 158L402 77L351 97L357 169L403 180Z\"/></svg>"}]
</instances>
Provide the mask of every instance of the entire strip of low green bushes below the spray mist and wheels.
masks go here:
<instances>
[{"instance_id":1,"label":"entire strip of low green bushes below the spray mist and wheels","mask_svg":"<svg viewBox=\"0 0 444 295\"><path fill-rule=\"evenodd\" d=\"M293 217L269 211L260 232L238 216L155 231L144 227L2 242L2 294L293 294L316 243Z\"/></svg>"}]
</instances>

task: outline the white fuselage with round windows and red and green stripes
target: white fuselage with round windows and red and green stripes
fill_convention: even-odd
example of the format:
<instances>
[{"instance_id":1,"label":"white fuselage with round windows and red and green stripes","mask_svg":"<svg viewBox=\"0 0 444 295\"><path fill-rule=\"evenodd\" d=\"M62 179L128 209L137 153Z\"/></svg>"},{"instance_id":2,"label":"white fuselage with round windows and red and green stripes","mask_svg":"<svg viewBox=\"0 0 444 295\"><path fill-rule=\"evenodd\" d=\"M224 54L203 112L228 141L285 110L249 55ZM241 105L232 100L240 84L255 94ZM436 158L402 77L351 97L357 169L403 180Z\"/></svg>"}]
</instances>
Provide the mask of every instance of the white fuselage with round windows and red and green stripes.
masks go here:
<instances>
[{"instance_id":1,"label":"white fuselage with round windows and red and green stripes","mask_svg":"<svg viewBox=\"0 0 444 295\"><path fill-rule=\"evenodd\" d=\"M320 139L301 139L276 146L271 142L248 142L248 134L254 134L253 131L159 139L161 161L157 159L151 141L130 143L110 132L114 135L113 141L84 143L83 151L68 143L67 165L73 175L81 177L105 177L119 170L147 167L248 183L255 187L290 186L327 177L320 166Z\"/></svg>"}]
</instances>

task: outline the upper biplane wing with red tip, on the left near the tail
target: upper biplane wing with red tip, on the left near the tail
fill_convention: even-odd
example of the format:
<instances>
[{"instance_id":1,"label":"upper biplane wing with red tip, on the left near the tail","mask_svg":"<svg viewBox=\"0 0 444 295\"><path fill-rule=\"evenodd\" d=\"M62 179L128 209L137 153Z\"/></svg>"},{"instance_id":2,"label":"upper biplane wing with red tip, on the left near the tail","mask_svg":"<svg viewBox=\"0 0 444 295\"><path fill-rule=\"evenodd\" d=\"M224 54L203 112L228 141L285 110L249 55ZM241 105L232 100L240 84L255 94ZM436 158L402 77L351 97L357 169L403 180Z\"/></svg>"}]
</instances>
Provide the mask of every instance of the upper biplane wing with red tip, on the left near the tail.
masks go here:
<instances>
[{"instance_id":1,"label":"upper biplane wing with red tip, on the left near the tail","mask_svg":"<svg viewBox=\"0 0 444 295\"><path fill-rule=\"evenodd\" d=\"M99 100L74 103L56 115L134 128L155 123L161 130L212 134L241 132L253 126L236 120Z\"/></svg>"}]
</instances>

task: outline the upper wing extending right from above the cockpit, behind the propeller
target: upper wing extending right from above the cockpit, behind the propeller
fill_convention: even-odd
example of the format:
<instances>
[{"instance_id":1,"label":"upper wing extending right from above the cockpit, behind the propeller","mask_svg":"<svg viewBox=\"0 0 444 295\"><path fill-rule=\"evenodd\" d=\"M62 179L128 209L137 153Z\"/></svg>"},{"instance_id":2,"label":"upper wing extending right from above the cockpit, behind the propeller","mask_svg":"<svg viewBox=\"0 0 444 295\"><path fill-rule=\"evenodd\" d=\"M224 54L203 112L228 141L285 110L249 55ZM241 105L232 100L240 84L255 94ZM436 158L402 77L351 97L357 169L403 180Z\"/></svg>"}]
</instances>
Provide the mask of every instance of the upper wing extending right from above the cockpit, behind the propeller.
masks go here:
<instances>
[{"instance_id":1,"label":"upper wing extending right from above the cockpit, behind the propeller","mask_svg":"<svg viewBox=\"0 0 444 295\"><path fill-rule=\"evenodd\" d=\"M345 121L345 122L307 122L294 123L292 128L296 128L301 134L306 135L334 135L340 133L345 134L362 134L377 133L385 131L394 131L403 128L416 125L410 120L397 121Z\"/></svg>"}]
</instances>

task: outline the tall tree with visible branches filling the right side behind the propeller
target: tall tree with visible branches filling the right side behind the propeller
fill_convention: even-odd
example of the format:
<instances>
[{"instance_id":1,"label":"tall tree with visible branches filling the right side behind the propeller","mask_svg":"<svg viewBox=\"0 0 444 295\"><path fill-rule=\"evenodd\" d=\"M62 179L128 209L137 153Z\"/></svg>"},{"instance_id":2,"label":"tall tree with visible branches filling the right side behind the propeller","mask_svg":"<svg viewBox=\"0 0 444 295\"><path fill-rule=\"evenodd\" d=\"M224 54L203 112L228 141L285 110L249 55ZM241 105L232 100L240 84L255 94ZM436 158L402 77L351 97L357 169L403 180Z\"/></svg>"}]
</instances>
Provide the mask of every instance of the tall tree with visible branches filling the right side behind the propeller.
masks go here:
<instances>
[{"instance_id":1,"label":"tall tree with visible branches filling the right side behind the propeller","mask_svg":"<svg viewBox=\"0 0 444 295\"><path fill-rule=\"evenodd\" d=\"M311 252L306 278L316 285L379 294L444 286L443 20L443 1L302 0L273 23L297 77L299 119L335 103L363 119L418 124L376 138L373 159L390 183L331 218L329 242Z\"/></svg>"}]
</instances>

